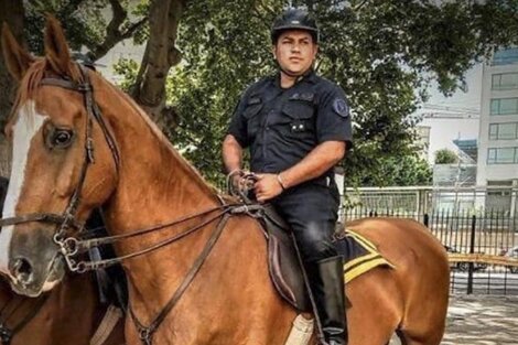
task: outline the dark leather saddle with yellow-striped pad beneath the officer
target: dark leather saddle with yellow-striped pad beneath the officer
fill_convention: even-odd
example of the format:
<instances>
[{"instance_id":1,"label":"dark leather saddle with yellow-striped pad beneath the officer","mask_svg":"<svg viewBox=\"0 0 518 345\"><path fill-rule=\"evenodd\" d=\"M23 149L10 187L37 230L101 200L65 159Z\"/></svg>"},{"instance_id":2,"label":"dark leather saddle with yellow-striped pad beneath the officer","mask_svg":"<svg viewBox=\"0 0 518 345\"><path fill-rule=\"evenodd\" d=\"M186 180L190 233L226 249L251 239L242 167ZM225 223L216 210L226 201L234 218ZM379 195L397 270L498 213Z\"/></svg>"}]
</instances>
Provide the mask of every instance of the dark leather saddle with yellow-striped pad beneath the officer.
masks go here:
<instances>
[{"instance_id":1,"label":"dark leather saddle with yellow-striped pad beneath the officer","mask_svg":"<svg viewBox=\"0 0 518 345\"><path fill-rule=\"evenodd\" d=\"M262 225L268 242L268 268L276 290L298 311L311 312L295 239L289 225L272 206L260 206L257 209L253 217ZM338 255L344 258L346 282L376 267L396 268L378 252L373 242L352 229L342 228L335 234L334 242Z\"/></svg>"}]
</instances>

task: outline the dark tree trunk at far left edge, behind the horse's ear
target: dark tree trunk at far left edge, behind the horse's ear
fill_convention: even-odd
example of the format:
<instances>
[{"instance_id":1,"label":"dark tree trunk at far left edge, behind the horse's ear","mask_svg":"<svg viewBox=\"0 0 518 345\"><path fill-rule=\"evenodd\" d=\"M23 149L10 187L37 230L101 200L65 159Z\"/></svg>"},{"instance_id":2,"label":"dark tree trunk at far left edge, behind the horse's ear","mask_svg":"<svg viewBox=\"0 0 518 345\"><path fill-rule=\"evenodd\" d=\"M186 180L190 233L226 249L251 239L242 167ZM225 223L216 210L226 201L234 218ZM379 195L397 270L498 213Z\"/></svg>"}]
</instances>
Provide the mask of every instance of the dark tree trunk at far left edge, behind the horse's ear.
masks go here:
<instances>
[{"instance_id":1,"label":"dark tree trunk at far left edge, behind the horse's ear","mask_svg":"<svg viewBox=\"0 0 518 345\"><path fill-rule=\"evenodd\" d=\"M23 1L0 0L0 23L7 23L18 42L23 42ZM1 47L1 42L0 42ZM0 52L3 52L0 50ZM14 99L15 82L9 75L3 60L3 53L0 54L0 175L7 176L10 171L9 150L3 127L11 111Z\"/></svg>"}]
</instances>

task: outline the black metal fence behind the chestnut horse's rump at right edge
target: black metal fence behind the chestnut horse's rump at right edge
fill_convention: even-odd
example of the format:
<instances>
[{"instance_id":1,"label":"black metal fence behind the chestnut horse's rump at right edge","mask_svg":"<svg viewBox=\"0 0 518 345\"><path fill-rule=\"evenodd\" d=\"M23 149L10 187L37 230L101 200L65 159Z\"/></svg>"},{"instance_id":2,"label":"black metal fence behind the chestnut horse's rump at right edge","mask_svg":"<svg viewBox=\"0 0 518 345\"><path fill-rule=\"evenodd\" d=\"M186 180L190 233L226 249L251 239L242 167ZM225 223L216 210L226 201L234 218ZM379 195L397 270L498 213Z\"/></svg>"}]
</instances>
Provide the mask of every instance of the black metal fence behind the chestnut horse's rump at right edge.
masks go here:
<instances>
[{"instance_id":1,"label":"black metal fence behind the chestnut horse's rump at right edge","mask_svg":"<svg viewBox=\"0 0 518 345\"><path fill-rule=\"evenodd\" d=\"M343 209L343 220L364 217L402 217L424 224L450 252L518 257L518 217L508 212ZM451 266L454 292L518 295L518 268L484 262Z\"/></svg>"}]
</instances>

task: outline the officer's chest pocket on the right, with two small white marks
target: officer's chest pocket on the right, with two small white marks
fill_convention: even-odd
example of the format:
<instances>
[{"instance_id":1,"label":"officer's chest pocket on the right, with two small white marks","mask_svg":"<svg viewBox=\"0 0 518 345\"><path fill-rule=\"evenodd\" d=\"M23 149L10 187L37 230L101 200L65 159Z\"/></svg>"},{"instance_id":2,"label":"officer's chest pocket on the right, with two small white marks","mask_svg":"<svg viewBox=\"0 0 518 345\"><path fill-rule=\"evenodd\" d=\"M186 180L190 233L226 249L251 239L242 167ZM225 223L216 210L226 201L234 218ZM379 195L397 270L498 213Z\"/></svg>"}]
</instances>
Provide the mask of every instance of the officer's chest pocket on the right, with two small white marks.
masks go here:
<instances>
[{"instance_id":1,"label":"officer's chest pocket on the right, with two small white marks","mask_svg":"<svg viewBox=\"0 0 518 345\"><path fill-rule=\"evenodd\" d=\"M283 132L291 138L313 139L315 134L315 109L312 103L289 100L279 119Z\"/></svg>"}]
</instances>

